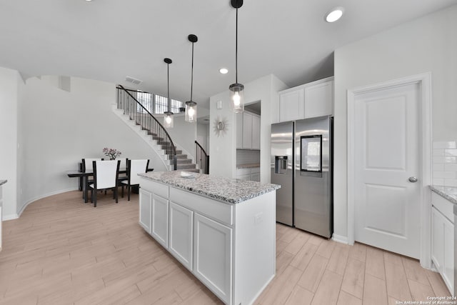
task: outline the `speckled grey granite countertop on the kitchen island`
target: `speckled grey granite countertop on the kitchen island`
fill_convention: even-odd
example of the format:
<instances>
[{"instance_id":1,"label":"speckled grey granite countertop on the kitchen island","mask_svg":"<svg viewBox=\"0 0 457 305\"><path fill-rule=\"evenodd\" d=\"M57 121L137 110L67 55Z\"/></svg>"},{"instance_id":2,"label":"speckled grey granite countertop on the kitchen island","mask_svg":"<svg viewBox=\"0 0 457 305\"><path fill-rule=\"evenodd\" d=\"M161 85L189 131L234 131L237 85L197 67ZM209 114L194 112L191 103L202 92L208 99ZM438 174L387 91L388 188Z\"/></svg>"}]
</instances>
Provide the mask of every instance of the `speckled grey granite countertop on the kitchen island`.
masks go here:
<instances>
[{"instance_id":1,"label":"speckled grey granite countertop on the kitchen island","mask_svg":"<svg viewBox=\"0 0 457 305\"><path fill-rule=\"evenodd\" d=\"M241 201L281 188L278 184L261 184L256 181L244 181L186 171L184 173L191 174L192 177L181 177L181 171L151 171L146 174L139 174L139 176L212 199L225 201L229 204L238 204Z\"/></svg>"}]
</instances>

